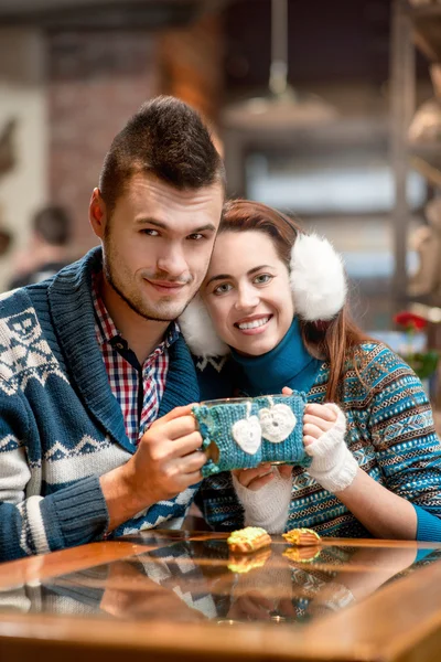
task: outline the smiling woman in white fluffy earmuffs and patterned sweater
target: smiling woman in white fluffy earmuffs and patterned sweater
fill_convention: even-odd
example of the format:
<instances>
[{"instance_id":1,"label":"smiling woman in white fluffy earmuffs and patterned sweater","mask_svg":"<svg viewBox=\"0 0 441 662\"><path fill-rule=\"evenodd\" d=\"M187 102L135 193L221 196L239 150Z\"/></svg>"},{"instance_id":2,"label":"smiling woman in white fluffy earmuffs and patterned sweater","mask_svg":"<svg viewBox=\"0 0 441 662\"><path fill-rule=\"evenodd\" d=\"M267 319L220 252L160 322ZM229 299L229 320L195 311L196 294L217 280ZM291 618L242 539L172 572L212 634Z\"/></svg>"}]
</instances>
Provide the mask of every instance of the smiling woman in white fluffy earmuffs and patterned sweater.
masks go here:
<instances>
[{"instance_id":1,"label":"smiling woman in white fluffy earmuffs and patterned sweater","mask_svg":"<svg viewBox=\"0 0 441 662\"><path fill-rule=\"evenodd\" d=\"M289 217L227 203L198 300L181 319L203 397L308 394L308 469L206 479L215 528L441 541L441 447L412 370L347 312L341 258ZM208 314L207 314L208 313ZM224 355L219 359L219 355ZM208 386L208 388L206 388Z\"/></svg>"}]
</instances>

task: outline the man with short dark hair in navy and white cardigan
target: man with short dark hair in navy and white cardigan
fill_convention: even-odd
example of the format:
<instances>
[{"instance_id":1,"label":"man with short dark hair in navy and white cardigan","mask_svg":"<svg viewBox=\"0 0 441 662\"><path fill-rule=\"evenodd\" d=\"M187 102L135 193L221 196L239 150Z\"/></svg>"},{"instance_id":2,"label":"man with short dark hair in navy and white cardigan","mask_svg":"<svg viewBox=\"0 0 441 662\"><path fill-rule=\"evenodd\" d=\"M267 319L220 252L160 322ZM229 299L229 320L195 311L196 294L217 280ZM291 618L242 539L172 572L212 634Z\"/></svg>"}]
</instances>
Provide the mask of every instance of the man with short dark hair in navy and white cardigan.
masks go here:
<instances>
[{"instance_id":1,"label":"man with short dark hair in navy and white cardigan","mask_svg":"<svg viewBox=\"0 0 441 662\"><path fill-rule=\"evenodd\" d=\"M181 525L205 456L174 320L205 276L224 189L198 115L153 99L93 192L101 247L3 297L1 559Z\"/></svg>"}]
</instances>

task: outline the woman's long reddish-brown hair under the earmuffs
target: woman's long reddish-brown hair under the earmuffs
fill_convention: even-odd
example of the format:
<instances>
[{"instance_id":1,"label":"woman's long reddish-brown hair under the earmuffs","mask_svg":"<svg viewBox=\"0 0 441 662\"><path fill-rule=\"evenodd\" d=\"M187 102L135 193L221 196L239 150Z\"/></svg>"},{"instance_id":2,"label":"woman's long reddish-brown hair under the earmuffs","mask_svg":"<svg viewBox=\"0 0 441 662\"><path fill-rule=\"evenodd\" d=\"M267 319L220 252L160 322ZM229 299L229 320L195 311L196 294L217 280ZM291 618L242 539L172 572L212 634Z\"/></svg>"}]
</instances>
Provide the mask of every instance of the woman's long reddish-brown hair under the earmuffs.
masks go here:
<instances>
[{"instance_id":1,"label":"woman's long reddish-brown hair under the earmuffs","mask_svg":"<svg viewBox=\"0 0 441 662\"><path fill-rule=\"evenodd\" d=\"M218 234L225 232L257 231L272 241L280 259L290 268L291 249L295 238L303 233L289 216L250 200L230 200L225 203ZM357 349L362 342L372 341L351 319L347 303L331 321L300 321L303 342L313 356L330 363L326 401L341 399L341 384L351 362L357 370Z\"/></svg>"}]
</instances>

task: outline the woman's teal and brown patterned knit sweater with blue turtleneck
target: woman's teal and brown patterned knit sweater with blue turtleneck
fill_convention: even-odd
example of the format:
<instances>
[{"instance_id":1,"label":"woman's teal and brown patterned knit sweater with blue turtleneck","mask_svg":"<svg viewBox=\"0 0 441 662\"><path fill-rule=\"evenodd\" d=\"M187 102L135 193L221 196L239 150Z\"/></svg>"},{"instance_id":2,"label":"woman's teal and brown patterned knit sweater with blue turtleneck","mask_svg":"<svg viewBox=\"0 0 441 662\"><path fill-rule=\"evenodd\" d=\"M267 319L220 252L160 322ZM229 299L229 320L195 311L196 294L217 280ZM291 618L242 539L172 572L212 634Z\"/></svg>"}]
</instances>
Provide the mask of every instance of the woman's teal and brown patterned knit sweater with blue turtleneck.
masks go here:
<instances>
[{"instance_id":1,"label":"woman's teal and brown patterned knit sweater with blue turtleneck","mask_svg":"<svg viewBox=\"0 0 441 662\"><path fill-rule=\"evenodd\" d=\"M347 365L342 389L346 444L364 471L413 504L417 538L441 541L441 446L421 383L384 344L365 343L358 354L359 376ZM308 354L295 327L263 356L233 354L225 364L198 360L196 365L203 397L232 395L227 385L234 383L241 394L251 396L290 386L305 391L309 402L322 403L330 376L329 364ZM244 525L229 473L206 479L196 501L214 528ZM295 526L312 527L325 536L370 537L347 508L301 467L293 468L286 530Z\"/></svg>"}]
</instances>

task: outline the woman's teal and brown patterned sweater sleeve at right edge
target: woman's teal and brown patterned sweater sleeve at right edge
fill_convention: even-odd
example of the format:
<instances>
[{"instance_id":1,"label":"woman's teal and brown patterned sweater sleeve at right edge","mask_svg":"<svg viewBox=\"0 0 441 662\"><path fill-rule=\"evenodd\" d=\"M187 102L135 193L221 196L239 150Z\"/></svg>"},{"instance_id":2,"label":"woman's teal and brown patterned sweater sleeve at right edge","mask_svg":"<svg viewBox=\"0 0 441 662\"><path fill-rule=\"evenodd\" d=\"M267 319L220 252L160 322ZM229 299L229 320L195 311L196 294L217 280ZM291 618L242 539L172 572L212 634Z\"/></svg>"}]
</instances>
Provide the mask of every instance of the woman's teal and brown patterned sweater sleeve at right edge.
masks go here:
<instances>
[{"instance_id":1,"label":"woman's teal and brown patterned sweater sleeve at right edge","mask_svg":"<svg viewBox=\"0 0 441 662\"><path fill-rule=\"evenodd\" d=\"M441 445L429 401L399 356L383 348L379 359L367 369L376 382L369 427L385 484L416 508L417 540L441 541Z\"/></svg>"}]
</instances>

